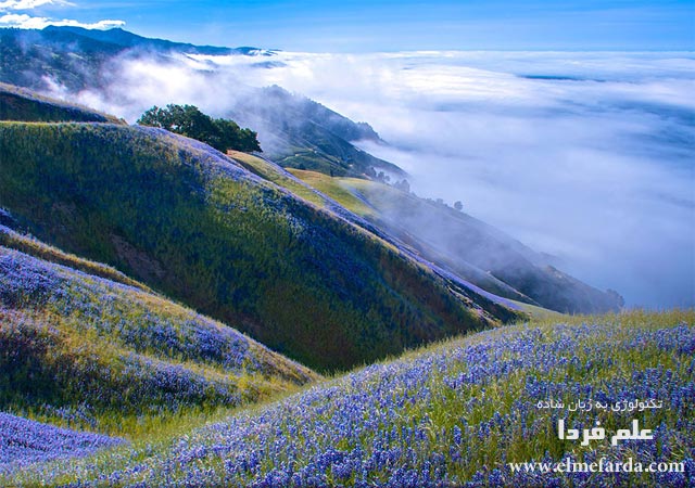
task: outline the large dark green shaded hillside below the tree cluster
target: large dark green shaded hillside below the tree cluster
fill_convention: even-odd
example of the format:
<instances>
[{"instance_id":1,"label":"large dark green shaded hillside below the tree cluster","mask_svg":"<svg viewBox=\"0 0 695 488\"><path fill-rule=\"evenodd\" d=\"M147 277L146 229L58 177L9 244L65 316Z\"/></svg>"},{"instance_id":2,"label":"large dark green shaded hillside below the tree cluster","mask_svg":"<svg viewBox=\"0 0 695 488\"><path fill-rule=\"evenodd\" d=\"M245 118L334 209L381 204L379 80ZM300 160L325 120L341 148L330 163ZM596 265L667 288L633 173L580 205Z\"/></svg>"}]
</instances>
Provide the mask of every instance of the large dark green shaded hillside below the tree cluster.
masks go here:
<instances>
[{"instance_id":1,"label":"large dark green shaded hillside below the tree cluster","mask_svg":"<svg viewBox=\"0 0 695 488\"><path fill-rule=\"evenodd\" d=\"M0 124L0 205L311 367L485 324L426 266L210 147L164 131Z\"/></svg>"}]
</instances>

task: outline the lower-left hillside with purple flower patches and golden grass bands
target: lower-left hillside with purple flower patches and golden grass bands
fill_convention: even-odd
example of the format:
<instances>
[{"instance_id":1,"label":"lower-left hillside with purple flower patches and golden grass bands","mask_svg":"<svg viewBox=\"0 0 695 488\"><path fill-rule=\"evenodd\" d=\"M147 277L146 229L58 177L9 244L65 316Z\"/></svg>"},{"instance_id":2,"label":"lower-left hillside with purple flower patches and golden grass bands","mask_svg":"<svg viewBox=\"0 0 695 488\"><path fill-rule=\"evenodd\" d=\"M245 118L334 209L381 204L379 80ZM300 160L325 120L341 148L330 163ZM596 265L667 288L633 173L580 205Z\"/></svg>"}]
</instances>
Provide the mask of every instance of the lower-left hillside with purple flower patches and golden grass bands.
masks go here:
<instances>
[{"instance_id":1,"label":"lower-left hillside with purple flower patches and golden grass bands","mask_svg":"<svg viewBox=\"0 0 695 488\"><path fill-rule=\"evenodd\" d=\"M165 298L0 246L0 411L138 435L316 377Z\"/></svg>"}]
</instances>

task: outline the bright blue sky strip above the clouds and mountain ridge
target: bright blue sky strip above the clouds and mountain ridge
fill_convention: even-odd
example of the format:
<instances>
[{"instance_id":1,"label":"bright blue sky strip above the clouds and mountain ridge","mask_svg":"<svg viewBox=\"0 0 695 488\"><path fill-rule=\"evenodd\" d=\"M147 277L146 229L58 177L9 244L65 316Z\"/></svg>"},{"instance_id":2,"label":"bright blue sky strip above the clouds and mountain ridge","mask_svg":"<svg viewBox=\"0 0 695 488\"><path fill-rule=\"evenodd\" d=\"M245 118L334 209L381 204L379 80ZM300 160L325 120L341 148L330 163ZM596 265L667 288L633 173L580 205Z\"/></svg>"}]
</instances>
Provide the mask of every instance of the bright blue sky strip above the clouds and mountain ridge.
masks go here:
<instances>
[{"instance_id":1,"label":"bright blue sky strip above the clouds and mountain ridge","mask_svg":"<svg viewBox=\"0 0 695 488\"><path fill-rule=\"evenodd\" d=\"M0 0L0 25L55 21L315 52L695 49L695 0Z\"/></svg>"}]
</instances>

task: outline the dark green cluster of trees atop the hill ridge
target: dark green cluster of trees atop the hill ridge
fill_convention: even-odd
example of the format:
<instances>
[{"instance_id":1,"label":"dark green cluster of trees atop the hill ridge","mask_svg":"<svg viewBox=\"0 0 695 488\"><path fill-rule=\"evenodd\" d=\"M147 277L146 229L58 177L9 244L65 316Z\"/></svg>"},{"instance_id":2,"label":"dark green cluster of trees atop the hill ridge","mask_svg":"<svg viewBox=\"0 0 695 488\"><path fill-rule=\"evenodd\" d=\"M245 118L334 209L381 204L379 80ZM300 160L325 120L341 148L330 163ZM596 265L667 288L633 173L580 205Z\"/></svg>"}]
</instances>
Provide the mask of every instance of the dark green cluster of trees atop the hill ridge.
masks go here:
<instances>
[{"instance_id":1,"label":"dark green cluster of trees atop the hill ridge","mask_svg":"<svg viewBox=\"0 0 695 488\"><path fill-rule=\"evenodd\" d=\"M222 152L261 151L256 132L240 128L233 120L212 118L194 105L169 104L165 108L155 105L142 114L138 124L197 139Z\"/></svg>"}]
</instances>

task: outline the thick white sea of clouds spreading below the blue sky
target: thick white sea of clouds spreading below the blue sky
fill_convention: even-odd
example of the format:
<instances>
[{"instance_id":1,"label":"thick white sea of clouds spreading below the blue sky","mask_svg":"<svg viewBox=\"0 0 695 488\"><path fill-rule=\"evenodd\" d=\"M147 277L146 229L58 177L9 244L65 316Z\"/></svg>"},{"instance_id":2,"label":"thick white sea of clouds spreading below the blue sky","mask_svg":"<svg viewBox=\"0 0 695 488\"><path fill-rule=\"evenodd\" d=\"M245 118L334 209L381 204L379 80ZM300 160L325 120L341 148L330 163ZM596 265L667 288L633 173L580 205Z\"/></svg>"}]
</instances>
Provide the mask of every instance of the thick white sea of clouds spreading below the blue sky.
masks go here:
<instances>
[{"instance_id":1,"label":"thick white sea of clouds spreading below the blue sky","mask_svg":"<svg viewBox=\"0 0 695 488\"><path fill-rule=\"evenodd\" d=\"M109 76L80 101L129 121L167 103L224 115L249 86L307 95L369 123L388 144L363 149L418 195L462 201L630 306L695 305L692 53L126 57Z\"/></svg>"}]
</instances>

